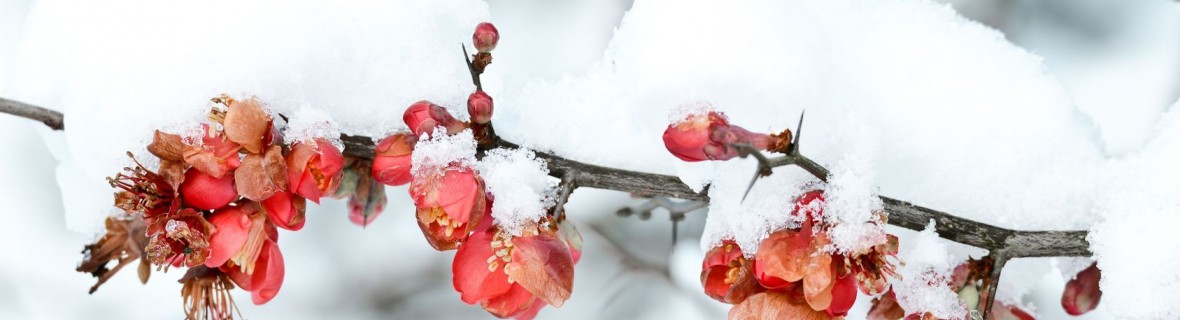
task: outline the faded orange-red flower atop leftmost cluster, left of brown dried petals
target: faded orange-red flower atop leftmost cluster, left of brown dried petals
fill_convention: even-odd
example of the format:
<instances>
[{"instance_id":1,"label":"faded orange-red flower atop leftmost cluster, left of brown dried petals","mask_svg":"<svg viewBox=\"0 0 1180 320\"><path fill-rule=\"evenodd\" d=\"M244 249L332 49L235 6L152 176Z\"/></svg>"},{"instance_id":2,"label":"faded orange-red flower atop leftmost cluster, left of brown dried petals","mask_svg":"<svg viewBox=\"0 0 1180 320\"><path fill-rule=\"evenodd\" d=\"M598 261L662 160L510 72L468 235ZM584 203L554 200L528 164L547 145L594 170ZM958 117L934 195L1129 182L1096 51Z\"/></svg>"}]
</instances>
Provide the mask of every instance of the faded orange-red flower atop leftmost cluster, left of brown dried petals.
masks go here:
<instances>
[{"instance_id":1,"label":"faded orange-red flower atop leftmost cluster, left of brown dried petals","mask_svg":"<svg viewBox=\"0 0 1180 320\"><path fill-rule=\"evenodd\" d=\"M184 146L184 163L215 178L224 177L242 164L242 159L237 155L242 146L229 141L223 132L208 124L201 126L205 131L201 138L202 143L201 145Z\"/></svg>"}]
</instances>

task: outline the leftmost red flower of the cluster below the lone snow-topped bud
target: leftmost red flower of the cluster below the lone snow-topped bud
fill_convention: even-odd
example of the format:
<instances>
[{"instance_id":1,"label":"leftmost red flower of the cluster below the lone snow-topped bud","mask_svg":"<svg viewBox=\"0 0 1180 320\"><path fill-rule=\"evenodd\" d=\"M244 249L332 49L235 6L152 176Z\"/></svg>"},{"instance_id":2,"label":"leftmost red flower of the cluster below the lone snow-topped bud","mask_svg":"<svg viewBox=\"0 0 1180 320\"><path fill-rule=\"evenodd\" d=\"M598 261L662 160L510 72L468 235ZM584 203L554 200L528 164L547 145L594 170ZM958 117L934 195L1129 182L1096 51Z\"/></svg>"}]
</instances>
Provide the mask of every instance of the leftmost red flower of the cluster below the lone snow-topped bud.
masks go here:
<instances>
[{"instance_id":1,"label":"leftmost red flower of the cluster below the lone snow-topped bud","mask_svg":"<svg viewBox=\"0 0 1180 320\"><path fill-rule=\"evenodd\" d=\"M754 279L752 261L742 256L741 248L725 241L704 254L701 263L701 285L704 293L717 301L739 303L761 288Z\"/></svg>"}]
</instances>

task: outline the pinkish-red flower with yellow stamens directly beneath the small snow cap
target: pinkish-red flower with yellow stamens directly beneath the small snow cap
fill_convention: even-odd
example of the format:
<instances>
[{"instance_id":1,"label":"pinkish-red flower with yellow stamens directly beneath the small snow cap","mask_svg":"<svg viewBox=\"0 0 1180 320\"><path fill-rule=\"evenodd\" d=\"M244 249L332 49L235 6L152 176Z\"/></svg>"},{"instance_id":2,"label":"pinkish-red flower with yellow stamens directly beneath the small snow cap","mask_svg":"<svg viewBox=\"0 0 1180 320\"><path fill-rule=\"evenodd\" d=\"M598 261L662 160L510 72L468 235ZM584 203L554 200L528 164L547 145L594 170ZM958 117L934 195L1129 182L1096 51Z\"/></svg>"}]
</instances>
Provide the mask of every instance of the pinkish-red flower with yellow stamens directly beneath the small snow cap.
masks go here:
<instances>
[{"instance_id":1,"label":"pinkish-red flower with yellow stamens directly beneath the small snow cap","mask_svg":"<svg viewBox=\"0 0 1180 320\"><path fill-rule=\"evenodd\" d=\"M409 196L418 207L418 227L426 241L434 249L450 250L483 218L486 198L484 181L471 169L452 165L441 171L415 178Z\"/></svg>"}]
</instances>

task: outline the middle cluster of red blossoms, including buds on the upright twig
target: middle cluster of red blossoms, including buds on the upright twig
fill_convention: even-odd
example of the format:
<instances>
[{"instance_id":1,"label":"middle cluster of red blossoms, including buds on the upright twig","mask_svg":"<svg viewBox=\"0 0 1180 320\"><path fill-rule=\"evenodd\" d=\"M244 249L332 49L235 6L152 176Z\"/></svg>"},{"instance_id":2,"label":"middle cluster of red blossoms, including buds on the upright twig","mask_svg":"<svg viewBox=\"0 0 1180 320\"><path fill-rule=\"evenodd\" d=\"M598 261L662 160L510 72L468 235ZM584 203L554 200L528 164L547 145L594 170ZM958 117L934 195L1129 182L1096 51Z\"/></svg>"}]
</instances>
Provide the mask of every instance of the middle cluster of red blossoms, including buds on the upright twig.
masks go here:
<instances>
[{"instance_id":1,"label":"middle cluster of red blossoms, including buds on the upright twig","mask_svg":"<svg viewBox=\"0 0 1180 320\"><path fill-rule=\"evenodd\" d=\"M491 61L499 33L484 22L472 35L481 72ZM546 305L560 307L573 288L573 265L582 252L582 236L564 216L545 215L509 231L492 218L494 194L474 166L474 149L467 154L419 155L419 146L471 132L485 145L491 133L492 98L478 90L467 98L470 122L445 107L421 100L402 116L409 132L398 132L376 144L372 175L388 185L409 184L418 227L438 250L457 249L452 276L460 299L479 303L499 318L532 319ZM470 130L470 131L468 131ZM428 161L427 161L428 158ZM551 210L552 211L552 210Z\"/></svg>"}]
</instances>

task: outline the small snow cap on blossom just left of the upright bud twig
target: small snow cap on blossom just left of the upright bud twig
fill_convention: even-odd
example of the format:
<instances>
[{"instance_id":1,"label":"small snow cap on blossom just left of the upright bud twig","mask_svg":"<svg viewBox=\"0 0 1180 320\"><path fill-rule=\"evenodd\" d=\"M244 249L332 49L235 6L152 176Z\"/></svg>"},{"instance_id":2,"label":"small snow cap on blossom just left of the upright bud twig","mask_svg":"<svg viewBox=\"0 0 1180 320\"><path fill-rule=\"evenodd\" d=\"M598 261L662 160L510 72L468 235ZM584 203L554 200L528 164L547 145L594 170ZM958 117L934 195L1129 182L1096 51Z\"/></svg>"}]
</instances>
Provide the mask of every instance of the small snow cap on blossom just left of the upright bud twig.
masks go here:
<instances>
[{"instance_id":1,"label":"small snow cap on blossom just left of the upright bud twig","mask_svg":"<svg viewBox=\"0 0 1180 320\"><path fill-rule=\"evenodd\" d=\"M446 129L435 128L433 135L422 133L409 157L409 172L414 177L441 175L450 165L476 168L476 136L464 130L448 136Z\"/></svg>"}]
</instances>

